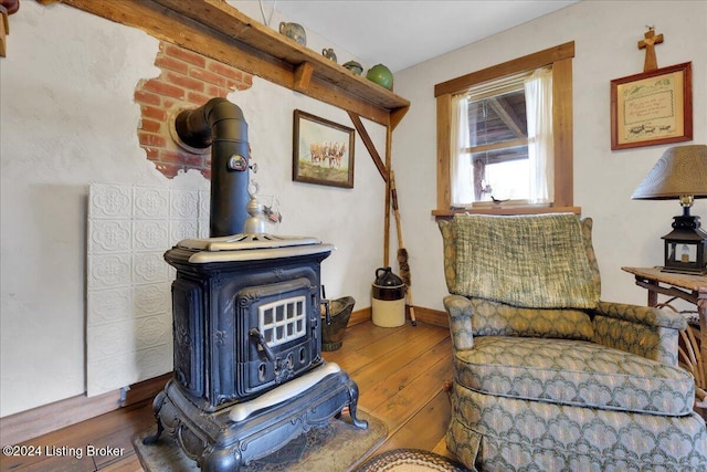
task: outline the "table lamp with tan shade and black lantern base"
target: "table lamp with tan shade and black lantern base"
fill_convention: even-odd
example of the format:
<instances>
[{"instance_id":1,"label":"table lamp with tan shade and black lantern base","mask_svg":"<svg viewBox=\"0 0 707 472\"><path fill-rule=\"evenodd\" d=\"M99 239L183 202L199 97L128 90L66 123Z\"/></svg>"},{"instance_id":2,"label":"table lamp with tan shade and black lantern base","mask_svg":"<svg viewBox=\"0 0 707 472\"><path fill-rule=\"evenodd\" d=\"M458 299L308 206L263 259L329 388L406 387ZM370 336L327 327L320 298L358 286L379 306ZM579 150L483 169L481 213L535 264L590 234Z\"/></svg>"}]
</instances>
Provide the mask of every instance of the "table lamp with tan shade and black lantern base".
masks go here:
<instances>
[{"instance_id":1,"label":"table lamp with tan shade and black lantern base","mask_svg":"<svg viewBox=\"0 0 707 472\"><path fill-rule=\"evenodd\" d=\"M689 213L696 198L707 197L707 145L668 148L635 189L633 200L678 199L683 214L673 218L673 231L663 237L663 271L707 273L707 232L699 217Z\"/></svg>"}]
</instances>

